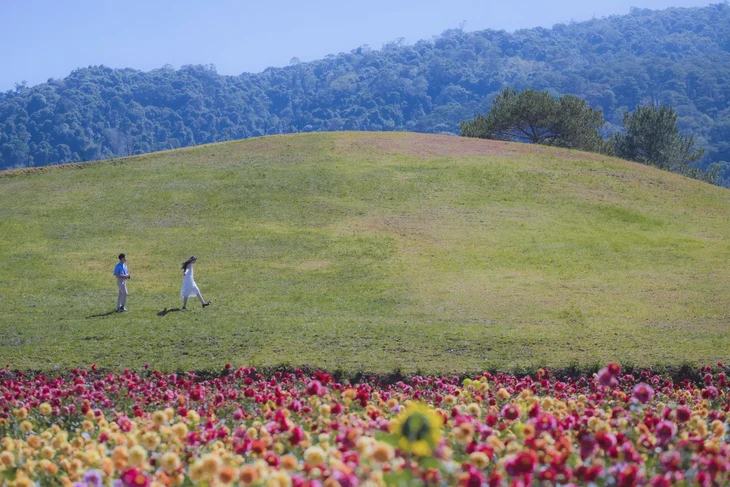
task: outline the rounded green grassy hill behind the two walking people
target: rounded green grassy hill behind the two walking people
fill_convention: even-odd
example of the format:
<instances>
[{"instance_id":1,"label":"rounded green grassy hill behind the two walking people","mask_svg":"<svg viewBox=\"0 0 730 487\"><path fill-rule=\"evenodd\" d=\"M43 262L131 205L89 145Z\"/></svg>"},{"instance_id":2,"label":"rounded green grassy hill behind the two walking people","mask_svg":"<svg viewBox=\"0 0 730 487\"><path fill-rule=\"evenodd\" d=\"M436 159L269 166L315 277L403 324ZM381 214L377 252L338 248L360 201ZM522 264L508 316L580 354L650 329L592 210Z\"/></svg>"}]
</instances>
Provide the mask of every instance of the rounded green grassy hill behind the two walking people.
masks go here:
<instances>
[{"instance_id":1,"label":"rounded green grassy hill behind the two walking people","mask_svg":"<svg viewBox=\"0 0 730 487\"><path fill-rule=\"evenodd\" d=\"M646 166L403 133L3 173L0 366L727 360L728 215L727 189ZM130 312L103 316L119 252ZM213 306L161 313L191 254Z\"/></svg>"}]
</instances>

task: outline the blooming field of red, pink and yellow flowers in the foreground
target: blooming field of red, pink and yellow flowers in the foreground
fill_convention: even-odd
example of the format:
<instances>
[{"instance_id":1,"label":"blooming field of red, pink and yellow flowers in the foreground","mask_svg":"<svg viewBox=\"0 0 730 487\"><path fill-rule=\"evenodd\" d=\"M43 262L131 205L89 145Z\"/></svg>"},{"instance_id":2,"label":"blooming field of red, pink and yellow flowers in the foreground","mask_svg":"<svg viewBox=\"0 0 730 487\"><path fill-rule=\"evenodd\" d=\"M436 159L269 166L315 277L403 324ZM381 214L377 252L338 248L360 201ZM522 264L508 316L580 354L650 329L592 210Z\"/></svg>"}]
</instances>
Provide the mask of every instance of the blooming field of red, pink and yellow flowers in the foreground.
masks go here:
<instances>
[{"instance_id":1,"label":"blooming field of red, pink and yellow flowers in the foreground","mask_svg":"<svg viewBox=\"0 0 730 487\"><path fill-rule=\"evenodd\" d=\"M0 483L65 486L722 485L728 382L609 364L557 380L483 374L338 383L0 371Z\"/></svg>"}]
</instances>

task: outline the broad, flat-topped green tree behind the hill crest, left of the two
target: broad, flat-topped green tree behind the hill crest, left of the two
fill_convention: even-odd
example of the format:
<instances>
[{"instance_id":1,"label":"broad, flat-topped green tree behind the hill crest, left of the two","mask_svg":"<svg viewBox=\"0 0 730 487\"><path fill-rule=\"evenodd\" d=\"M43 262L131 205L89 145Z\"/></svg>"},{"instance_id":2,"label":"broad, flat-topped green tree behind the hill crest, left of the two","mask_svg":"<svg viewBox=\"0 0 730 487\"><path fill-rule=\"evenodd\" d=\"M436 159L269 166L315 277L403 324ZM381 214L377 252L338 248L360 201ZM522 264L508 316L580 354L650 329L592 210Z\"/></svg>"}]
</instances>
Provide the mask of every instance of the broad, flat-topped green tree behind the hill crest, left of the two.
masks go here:
<instances>
[{"instance_id":1,"label":"broad, flat-topped green tree behind the hill crest, left of the two","mask_svg":"<svg viewBox=\"0 0 730 487\"><path fill-rule=\"evenodd\" d=\"M461 135L602 151L603 113L572 95L553 98L546 91L505 89L486 116L461 123Z\"/></svg>"}]
</instances>

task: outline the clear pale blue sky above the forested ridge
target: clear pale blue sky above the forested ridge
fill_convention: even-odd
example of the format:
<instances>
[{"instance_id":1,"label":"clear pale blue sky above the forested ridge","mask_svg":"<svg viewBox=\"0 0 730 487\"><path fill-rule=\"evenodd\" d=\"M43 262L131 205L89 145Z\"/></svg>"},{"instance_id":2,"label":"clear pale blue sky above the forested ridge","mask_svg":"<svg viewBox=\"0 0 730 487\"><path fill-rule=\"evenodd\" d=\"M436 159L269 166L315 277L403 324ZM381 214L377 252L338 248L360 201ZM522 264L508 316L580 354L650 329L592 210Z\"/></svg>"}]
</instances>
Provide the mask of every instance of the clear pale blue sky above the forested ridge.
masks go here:
<instances>
[{"instance_id":1,"label":"clear pale blue sky above the forested ridge","mask_svg":"<svg viewBox=\"0 0 730 487\"><path fill-rule=\"evenodd\" d=\"M705 6L702 0L0 0L0 90L62 78L81 66L150 70L215 64L219 73L258 72L297 56L327 54L404 37L466 30L513 31L625 14L630 7Z\"/></svg>"}]
</instances>

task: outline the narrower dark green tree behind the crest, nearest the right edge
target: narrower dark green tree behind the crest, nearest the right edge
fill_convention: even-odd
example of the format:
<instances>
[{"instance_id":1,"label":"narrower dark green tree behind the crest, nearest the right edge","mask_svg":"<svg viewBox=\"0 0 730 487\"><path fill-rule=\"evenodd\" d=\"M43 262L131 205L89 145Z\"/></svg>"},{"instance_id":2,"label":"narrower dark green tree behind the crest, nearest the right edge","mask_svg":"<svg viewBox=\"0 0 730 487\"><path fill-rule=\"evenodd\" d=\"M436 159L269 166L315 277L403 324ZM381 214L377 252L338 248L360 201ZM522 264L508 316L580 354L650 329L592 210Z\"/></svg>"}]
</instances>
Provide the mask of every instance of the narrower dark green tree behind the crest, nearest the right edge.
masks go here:
<instances>
[{"instance_id":1,"label":"narrower dark green tree behind the crest, nearest the right edge","mask_svg":"<svg viewBox=\"0 0 730 487\"><path fill-rule=\"evenodd\" d=\"M694 137L682 136L673 108L640 106L623 118L626 133L614 134L617 157L629 159L715 184L718 168L703 171L692 164L702 159L704 149L695 149Z\"/></svg>"}]
</instances>

